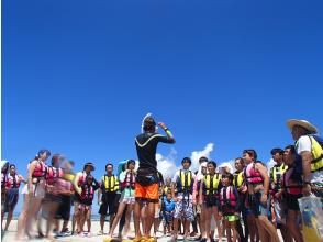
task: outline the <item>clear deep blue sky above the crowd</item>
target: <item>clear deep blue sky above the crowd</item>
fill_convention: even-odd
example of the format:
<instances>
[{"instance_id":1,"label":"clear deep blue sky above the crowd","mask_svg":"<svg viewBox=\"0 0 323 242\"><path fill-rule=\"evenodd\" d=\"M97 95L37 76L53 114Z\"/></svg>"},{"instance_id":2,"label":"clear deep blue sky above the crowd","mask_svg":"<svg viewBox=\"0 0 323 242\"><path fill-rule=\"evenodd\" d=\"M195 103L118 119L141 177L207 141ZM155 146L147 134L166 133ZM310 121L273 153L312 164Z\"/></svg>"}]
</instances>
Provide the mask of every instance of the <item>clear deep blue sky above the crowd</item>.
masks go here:
<instances>
[{"instance_id":1,"label":"clear deep blue sky above the crowd","mask_svg":"<svg viewBox=\"0 0 323 242\"><path fill-rule=\"evenodd\" d=\"M136 158L153 112L176 162L214 143L263 161L289 118L323 129L322 1L2 1L2 160L42 147L77 162ZM158 152L170 153L169 145Z\"/></svg>"}]
</instances>

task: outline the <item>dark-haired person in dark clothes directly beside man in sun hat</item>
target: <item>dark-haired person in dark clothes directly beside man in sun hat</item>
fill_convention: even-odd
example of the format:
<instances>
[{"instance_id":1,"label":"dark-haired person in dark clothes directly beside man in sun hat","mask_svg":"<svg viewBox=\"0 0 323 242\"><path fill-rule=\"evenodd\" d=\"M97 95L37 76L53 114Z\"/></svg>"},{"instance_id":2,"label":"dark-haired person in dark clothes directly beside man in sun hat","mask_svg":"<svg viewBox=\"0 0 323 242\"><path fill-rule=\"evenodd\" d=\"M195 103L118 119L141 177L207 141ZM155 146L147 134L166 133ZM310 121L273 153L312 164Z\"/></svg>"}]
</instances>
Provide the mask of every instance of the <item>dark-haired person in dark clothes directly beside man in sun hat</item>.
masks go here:
<instances>
[{"instance_id":1,"label":"dark-haired person in dark clothes directly beside man in sun hat","mask_svg":"<svg viewBox=\"0 0 323 242\"><path fill-rule=\"evenodd\" d=\"M296 150L293 145L288 145L285 147L283 161L288 165L288 169L282 175L282 199L287 207L287 220L286 226L289 229L291 237L296 242L303 242L303 237L300 231L300 207L298 199L302 197L302 178L299 177L298 180L292 178L293 165L297 158Z\"/></svg>"}]
</instances>

